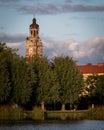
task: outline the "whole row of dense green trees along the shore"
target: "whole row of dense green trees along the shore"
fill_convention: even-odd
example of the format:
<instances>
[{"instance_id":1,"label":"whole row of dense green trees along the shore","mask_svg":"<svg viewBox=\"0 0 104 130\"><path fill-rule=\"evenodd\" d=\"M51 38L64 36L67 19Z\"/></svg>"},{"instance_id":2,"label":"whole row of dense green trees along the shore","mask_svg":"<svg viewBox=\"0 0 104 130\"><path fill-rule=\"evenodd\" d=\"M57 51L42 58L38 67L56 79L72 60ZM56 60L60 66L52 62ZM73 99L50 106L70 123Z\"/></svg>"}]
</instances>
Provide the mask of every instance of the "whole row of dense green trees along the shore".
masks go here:
<instances>
[{"instance_id":1,"label":"whole row of dense green trees along the shore","mask_svg":"<svg viewBox=\"0 0 104 130\"><path fill-rule=\"evenodd\" d=\"M84 81L72 58L59 56L49 60L36 56L32 63L27 64L25 58L16 52L16 49L0 43L1 105L41 104L44 110L45 104L60 102L65 110L65 104L78 103ZM104 90L103 81L104 77L101 77L96 82L98 95ZM104 97L103 94L100 96Z\"/></svg>"}]
</instances>

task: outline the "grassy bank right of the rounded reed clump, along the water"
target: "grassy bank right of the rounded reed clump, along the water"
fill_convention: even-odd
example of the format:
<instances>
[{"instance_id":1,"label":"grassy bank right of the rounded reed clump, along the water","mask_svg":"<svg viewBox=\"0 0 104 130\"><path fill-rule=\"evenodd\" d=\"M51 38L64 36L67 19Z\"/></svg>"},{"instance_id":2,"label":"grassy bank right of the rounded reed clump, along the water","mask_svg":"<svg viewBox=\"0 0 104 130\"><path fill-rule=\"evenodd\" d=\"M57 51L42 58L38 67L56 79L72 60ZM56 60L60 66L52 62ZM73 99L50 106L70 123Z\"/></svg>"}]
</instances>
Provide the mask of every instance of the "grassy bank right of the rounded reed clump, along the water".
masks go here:
<instances>
[{"instance_id":1,"label":"grassy bank right of the rounded reed clump, along the water","mask_svg":"<svg viewBox=\"0 0 104 130\"><path fill-rule=\"evenodd\" d=\"M47 119L61 119L61 120L104 120L104 107L97 107L89 110L77 111L47 111Z\"/></svg>"}]
</instances>

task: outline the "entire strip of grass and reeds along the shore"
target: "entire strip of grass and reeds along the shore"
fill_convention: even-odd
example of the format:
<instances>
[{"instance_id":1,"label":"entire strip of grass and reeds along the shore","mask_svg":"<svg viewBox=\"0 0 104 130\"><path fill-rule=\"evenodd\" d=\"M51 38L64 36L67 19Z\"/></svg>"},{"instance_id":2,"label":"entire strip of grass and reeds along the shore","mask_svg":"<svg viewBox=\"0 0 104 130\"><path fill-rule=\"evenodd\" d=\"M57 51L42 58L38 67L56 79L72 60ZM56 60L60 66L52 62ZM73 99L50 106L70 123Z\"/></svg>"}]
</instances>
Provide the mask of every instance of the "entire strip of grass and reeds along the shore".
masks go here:
<instances>
[{"instance_id":1,"label":"entire strip of grass and reeds along the shore","mask_svg":"<svg viewBox=\"0 0 104 130\"><path fill-rule=\"evenodd\" d=\"M45 111L35 107L31 111L22 108L0 108L0 120L104 120L104 107L76 111Z\"/></svg>"}]
</instances>

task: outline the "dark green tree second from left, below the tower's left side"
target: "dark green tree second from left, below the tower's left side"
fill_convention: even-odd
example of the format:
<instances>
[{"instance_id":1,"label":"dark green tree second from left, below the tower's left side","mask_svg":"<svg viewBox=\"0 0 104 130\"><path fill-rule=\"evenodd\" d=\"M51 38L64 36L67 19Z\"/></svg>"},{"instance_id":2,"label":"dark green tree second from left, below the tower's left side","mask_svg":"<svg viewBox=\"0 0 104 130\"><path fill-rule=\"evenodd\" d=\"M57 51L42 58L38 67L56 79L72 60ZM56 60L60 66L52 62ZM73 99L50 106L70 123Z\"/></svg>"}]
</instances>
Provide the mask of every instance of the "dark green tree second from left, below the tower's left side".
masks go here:
<instances>
[{"instance_id":1,"label":"dark green tree second from left, below the tower's left side","mask_svg":"<svg viewBox=\"0 0 104 130\"><path fill-rule=\"evenodd\" d=\"M31 70L29 70L24 58L17 57L13 59L11 82L12 102L26 104L32 93L32 79Z\"/></svg>"}]
</instances>

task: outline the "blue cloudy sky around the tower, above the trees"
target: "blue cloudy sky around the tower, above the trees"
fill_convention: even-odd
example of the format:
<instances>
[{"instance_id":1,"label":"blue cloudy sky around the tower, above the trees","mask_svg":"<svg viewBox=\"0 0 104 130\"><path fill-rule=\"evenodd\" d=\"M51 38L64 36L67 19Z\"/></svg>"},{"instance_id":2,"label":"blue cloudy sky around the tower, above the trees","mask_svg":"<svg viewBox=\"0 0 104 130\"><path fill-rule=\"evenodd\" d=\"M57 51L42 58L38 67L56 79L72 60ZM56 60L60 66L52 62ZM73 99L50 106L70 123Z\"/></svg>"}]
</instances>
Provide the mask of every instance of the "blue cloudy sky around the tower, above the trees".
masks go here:
<instances>
[{"instance_id":1,"label":"blue cloudy sky around the tower, above the trees","mask_svg":"<svg viewBox=\"0 0 104 130\"><path fill-rule=\"evenodd\" d=\"M69 56L79 65L104 63L103 0L0 0L0 42L25 56L33 18L44 56Z\"/></svg>"}]
</instances>

